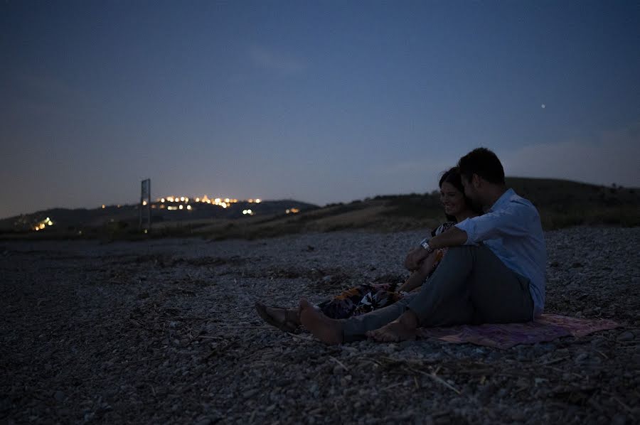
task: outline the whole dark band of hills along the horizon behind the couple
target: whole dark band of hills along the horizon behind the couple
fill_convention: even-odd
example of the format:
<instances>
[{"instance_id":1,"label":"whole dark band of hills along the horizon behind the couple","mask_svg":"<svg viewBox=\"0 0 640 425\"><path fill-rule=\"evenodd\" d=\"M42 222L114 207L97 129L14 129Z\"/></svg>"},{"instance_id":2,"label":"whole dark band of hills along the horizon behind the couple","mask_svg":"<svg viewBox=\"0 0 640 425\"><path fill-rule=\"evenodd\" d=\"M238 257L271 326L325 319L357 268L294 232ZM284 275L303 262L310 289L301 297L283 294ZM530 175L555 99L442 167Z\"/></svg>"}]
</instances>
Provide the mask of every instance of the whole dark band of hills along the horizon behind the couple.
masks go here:
<instances>
[{"instance_id":1,"label":"whole dark band of hills along the horizon behind the couple","mask_svg":"<svg viewBox=\"0 0 640 425\"><path fill-rule=\"evenodd\" d=\"M640 189L599 186L556 179L509 177L507 184L540 211L545 230L573 225L640 225ZM255 215L242 215L252 209ZM289 210L289 214L286 213ZM299 210L294 213L292 211ZM193 210L152 210L153 230L144 237L273 237L343 229L398 231L434 227L445 220L439 193L380 195L319 208L294 200L238 203L230 208L194 205ZM33 223L50 217L46 232ZM94 210L46 210L0 220L3 237L143 237L136 205ZM38 234L39 233L39 234ZM81 234L81 235L80 235Z\"/></svg>"}]
</instances>

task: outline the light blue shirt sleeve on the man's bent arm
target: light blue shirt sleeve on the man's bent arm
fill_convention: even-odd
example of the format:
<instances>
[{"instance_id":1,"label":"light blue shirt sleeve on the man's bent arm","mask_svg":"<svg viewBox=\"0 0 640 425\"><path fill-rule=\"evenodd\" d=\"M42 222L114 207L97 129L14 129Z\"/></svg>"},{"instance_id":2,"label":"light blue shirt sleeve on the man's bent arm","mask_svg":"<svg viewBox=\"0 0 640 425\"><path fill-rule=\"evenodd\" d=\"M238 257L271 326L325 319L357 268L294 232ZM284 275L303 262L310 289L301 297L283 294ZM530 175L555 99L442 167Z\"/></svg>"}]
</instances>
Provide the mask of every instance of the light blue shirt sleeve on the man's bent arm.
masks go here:
<instances>
[{"instance_id":1,"label":"light blue shirt sleeve on the man's bent arm","mask_svg":"<svg viewBox=\"0 0 640 425\"><path fill-rule=\"evenodd\" d=\"M536 215L528 205L509 203L501 210L467 218L456 227L466 232L465 245L475 245L498 237L527 235Z\"/></svg>"}]
</instances>

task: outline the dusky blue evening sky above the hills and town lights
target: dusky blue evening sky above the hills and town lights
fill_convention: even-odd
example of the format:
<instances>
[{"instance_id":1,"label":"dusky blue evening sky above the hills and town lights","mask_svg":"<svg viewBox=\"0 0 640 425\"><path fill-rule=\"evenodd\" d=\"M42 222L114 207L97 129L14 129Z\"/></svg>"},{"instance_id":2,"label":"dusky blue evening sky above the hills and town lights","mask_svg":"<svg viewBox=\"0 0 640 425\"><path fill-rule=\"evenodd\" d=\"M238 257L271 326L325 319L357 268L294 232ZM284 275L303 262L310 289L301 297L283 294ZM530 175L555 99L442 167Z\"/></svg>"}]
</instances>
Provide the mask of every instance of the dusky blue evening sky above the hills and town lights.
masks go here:
<instances>
[{"instance_id":1,"label":"dusky blue evening sky above the hills and town lights","mask_svg":"<svg viewBox=\"0 0 640 425\"><path fill-rule=\"evenodd\" d=\"M508 176L640 186L638 1L0 1L0 217L324 205Z\"/></svg>"}]
</instances>

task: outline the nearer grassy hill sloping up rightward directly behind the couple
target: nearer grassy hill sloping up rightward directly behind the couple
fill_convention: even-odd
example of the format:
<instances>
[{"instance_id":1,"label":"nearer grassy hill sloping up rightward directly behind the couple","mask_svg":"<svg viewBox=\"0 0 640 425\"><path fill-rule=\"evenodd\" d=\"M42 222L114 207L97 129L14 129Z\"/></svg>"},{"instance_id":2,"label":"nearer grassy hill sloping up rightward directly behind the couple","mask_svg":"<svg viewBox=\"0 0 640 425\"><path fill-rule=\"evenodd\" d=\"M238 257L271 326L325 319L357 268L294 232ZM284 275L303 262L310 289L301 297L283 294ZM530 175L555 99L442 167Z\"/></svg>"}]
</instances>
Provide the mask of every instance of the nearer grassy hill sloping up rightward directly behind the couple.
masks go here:
<instances>
[{"instance_id":1,"label":"nearer grassy hill sloping up rightward directly behind the couple","mask_svg":"<svg viewBox=\"0 0 640 425\"><path fill-rule=\"evenodd\" d=\"M507 178L516 193L540 211L545 230L573 225L640 225L640 190L541 178ZM343 229L398 231L434 227L446 220L439 193L380 195L327 205L290 217L213 224L210 237L270 237Z\"/></svg>"}]
</instances>

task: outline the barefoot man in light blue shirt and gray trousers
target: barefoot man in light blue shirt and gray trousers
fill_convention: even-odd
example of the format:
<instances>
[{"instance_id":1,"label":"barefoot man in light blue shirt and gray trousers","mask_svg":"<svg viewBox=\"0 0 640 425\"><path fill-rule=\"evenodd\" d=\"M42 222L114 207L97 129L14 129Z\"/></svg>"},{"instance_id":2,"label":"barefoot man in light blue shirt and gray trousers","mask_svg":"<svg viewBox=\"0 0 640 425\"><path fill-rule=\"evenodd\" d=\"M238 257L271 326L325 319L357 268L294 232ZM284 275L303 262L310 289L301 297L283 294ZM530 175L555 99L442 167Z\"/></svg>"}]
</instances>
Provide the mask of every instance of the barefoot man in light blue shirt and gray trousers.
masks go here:
<instances>
[{"instance_id":1,"label":"barefoot man in light blue shirt and gray trousers","mask_svg":"<svg viewBox=\"0 0 640 425\"><path fill-rule=\"evenodd\" d=\"M300 319L316 338L329 344L366 335L411 340L418 327L526 322L542 313L547 254L538 210L506 187L502 164L489 149L474 149L458 166L464 193L484 215L457 223L407 255L405 266L415 270L436 249L449 248L420 292L398 303L338 321L302 299Z\"/></svg>"}]
</instances>

